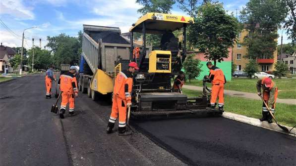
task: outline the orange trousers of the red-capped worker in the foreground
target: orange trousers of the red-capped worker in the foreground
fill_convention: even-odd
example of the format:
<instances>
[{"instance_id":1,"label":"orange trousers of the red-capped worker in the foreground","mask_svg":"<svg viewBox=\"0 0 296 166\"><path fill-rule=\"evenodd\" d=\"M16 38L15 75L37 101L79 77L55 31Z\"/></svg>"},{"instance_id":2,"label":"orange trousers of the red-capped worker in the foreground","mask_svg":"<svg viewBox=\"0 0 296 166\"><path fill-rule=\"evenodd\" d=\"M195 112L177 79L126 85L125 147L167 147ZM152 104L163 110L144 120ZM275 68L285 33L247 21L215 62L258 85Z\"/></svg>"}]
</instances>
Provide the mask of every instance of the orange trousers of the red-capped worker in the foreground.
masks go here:
<instances>
[{"instance_id":1,"label":"orange trousers of the red-capped worker in the foreground","mask_svg":"<svg viewBox=\"0 0 296 166\"><path fill-rule=\"evenodd\" d=\"M119 116L119 127L125 127L126 125L126 109L126 100L114 95L110 118L116 120Z\"/></svg>"}]
</instances>

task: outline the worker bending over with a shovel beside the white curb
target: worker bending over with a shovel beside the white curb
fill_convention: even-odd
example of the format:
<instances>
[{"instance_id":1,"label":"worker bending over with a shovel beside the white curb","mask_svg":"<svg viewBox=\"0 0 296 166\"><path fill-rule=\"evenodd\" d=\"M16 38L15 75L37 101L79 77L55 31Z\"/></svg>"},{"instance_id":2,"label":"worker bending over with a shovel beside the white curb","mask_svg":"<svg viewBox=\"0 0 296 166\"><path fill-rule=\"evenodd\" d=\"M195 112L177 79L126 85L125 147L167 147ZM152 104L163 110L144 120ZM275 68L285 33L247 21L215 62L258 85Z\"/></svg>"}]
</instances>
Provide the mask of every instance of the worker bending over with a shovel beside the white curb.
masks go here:
<instances>
[{"instance_id":1,"label":"worker bending over with a shovel beside the white curb","mask_svg":"<svg viewBox=\"0 0 296 166\"><path fill-rule=\"evenodd\" d=\"M258 80L256 87L258 95L261 96L261 94L263 93L263 100L268 104L268 107L272 114L274 114L275 103L278 97L278 87L270 78L263 78L262 80ZM272 123L272 116L270 115L264 102L262 105L262 118L260 119L260 121L268 121L268 123Z\"/></svg>"}]
</instances>

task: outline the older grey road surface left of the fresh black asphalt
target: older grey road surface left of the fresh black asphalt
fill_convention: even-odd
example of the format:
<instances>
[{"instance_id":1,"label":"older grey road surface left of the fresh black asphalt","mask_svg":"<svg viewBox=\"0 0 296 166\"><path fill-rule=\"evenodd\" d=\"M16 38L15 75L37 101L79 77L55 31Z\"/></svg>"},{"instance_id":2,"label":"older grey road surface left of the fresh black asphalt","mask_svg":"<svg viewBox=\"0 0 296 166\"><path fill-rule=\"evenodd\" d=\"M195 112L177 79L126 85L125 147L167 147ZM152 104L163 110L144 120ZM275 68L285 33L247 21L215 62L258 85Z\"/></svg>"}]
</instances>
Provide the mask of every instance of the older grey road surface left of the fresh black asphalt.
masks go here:
<instances>
[{"instance_id":1,"label":"older grey road surface left of the fresh black asphalt","mask_svg":"<svg viewBox=\"0 0 296 166\"><path fill-rule=\"evenodd\" d=\"M100 98L79 93L77 115L60 120L50 112L56 99L45 99L43 75L0 83L0 166L186 165L139 132L106 134L111 103Z\"/></svg>"}]
</instances>

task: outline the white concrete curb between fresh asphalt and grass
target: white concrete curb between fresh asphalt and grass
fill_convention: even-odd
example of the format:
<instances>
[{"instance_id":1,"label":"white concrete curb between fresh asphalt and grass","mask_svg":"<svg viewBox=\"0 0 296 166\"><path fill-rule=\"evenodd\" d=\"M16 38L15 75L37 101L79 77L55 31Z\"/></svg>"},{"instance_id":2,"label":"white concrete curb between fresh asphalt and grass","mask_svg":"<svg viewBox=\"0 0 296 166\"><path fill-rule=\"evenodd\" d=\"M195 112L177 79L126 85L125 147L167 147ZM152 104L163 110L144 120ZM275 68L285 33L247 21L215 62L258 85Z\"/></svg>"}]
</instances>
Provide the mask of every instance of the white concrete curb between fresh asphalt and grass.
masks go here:
<instances>
[{"instance_id":1,"label":"white concrete curb between fresh asphalt and grass","mask_svg":"<svg viewBox=\"0 0 296 166\"><path fill-rule=\"evenodd\" d=\"M291 130L291 133L287 133L287 132L284 132L276 123L269 124L266 121L261 122L259 119L256 119L256 118L250 118L250 117L246 117L246 116L243 116L243 115L230 113L230 112L224 112L222 117L232 119L232 120L235 120L235 121L238 121L238 122L242 122L242 123L245 123L245 124L251 124L251 125L254 125L254 126L258 126L258 127L266 128L266 129L269 129L269 130L281 132L281 133L288 134L288 135L296 137L296 128L293 128ZM289 127L289 126L286 126L286 127L289 130L292 128L292 127Z\"/></svg>"}]
</instances>

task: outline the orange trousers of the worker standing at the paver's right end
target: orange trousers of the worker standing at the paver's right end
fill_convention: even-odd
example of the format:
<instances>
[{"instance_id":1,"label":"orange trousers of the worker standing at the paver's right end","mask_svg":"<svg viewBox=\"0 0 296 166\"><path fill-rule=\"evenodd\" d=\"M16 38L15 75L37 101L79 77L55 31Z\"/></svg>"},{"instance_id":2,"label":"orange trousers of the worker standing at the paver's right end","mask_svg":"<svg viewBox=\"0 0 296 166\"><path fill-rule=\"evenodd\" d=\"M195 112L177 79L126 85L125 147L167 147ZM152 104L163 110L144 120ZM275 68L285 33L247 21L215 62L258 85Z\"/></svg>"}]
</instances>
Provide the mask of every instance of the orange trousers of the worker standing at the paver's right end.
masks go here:
<instances>
[{"instance_id":1,"label":"orange trousers of the worker standing at the paver's right end","mask_svg":"<svg viewBox=\"0 0 296 166\"><path fill-rule=\"evenodd\" d=\"M218 100L218 105L224 105L224 84L220 83L218 85L212 85L212 94L211 94L211 105L214 105Z\"/></svg>"}]
</instances>

